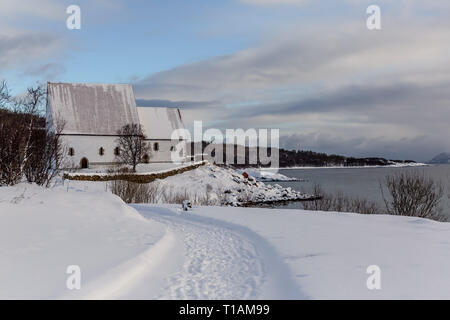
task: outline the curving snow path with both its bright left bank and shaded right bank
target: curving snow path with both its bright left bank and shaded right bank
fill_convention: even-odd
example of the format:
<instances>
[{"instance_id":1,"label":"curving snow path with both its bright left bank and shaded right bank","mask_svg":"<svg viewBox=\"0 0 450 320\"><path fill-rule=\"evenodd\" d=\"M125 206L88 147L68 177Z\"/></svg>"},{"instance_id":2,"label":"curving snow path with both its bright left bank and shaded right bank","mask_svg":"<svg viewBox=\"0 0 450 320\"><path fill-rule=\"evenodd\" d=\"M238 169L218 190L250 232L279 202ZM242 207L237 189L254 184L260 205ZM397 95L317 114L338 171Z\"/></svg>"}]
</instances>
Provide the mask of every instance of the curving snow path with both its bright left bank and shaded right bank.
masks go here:
<instances>
[{"instance_id":1,"label":"curving snow path with both its bright left bank and shaded right bank","mask_svg":"<svg viewBox=\"0 0 450 320\"><path fill-rule=\"evenodd\" d=\"M299 299L277 252L250 229L175 208L134 205L164 235L63 299Z\"/></svg>"}]
</instances>

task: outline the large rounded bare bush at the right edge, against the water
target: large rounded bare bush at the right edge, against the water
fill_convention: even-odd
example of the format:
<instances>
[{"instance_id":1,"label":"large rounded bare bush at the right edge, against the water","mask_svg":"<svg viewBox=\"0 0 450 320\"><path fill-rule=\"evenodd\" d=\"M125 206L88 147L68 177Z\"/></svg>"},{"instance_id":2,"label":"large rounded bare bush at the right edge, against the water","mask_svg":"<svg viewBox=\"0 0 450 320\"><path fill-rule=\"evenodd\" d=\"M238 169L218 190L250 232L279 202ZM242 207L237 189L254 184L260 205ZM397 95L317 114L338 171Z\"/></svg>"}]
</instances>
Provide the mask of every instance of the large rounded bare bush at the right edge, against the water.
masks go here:
<instances>
[{"instance_id":1,"label":"large rounded bare bush at the right edge, against the water","mask_svg":"<svg viewBox=\"0 0 450 320\"><path fill-rule=\"evenodd\" d=\"M423 172L404 171L388 175L384 182L389 197L381 186L388 214L445 221L440 206L444 189Z\"/></svg>"}]
</instances>

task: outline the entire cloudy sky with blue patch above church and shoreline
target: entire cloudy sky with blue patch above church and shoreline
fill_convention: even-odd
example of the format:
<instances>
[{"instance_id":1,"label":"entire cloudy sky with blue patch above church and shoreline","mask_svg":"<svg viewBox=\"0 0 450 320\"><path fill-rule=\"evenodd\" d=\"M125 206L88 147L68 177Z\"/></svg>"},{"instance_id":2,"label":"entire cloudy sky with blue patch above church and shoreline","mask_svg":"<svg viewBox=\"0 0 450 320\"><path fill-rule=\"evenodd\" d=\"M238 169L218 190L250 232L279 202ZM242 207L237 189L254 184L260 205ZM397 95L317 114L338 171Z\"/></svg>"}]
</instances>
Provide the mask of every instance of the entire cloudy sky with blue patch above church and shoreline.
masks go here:
<instances>
[{"instance_id":1,"label":"entire cloudy sky with blue patch above church and shoreline","mask_svg":"<svg viewBox=\"0 0 450 320\"><path fill-rule=\"evenodd\" d=\"M81 8L81 30L66 9ZM381 30L366 9L381 8ZM448 0L0 0L0 78L132 83L185 122L281 145L429 160L450 151Z\"/></svg>"}]
</instances>

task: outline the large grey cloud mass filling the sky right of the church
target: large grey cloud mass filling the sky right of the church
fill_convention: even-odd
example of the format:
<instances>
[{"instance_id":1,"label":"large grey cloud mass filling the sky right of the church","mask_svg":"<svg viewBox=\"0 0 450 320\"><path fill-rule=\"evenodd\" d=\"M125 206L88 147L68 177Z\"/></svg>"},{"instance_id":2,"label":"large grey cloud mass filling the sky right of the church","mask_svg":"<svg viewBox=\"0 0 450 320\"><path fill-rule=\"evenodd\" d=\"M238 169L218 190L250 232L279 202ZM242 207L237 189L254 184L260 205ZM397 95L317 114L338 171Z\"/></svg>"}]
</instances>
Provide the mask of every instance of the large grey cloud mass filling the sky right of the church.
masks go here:
<instances>
[{"instance_id":1,"label":"large grey cloud mass filling the sky right of the church","mask_svg":"<svg viewBox=\"0 0 450 320\"><path fill-rule=\"evenodd\" d=\"M150 75L136 93L214 101L187 112L219 128L340 137L312 139L317 151L428 159L450 150L450 28L410 18L384 20L380 32L357 22L293 26L254 48Z\"/></svg>"}]
</instances>

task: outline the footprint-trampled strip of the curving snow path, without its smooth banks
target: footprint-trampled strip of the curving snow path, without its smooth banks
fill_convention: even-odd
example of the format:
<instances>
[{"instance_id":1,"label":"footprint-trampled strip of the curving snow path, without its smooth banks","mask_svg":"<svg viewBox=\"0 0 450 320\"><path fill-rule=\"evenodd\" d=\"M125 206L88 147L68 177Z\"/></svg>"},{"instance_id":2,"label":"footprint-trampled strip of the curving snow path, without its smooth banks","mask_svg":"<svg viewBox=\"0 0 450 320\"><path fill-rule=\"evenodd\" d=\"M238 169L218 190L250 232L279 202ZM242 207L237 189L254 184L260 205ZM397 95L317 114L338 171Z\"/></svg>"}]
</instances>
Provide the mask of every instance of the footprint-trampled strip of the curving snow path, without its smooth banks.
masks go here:
<instances>
[{"instance_id":1,"label":"footprint-trampled strip of the curving snow path, without its smooth banks","mask_svg":"<svg viewBox=\"0 0 450 320\"><path fill-rule=\"evenodd\" d=\"M180 219L170 209L139 211L165 223L181 239L184 263L168 279L166 299L249 299L263 278L255 247L233 232ZM154 213L158 211L158 213Z\"/></svg>"}]
</instances>

